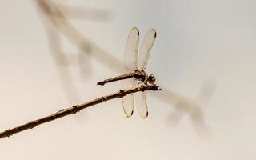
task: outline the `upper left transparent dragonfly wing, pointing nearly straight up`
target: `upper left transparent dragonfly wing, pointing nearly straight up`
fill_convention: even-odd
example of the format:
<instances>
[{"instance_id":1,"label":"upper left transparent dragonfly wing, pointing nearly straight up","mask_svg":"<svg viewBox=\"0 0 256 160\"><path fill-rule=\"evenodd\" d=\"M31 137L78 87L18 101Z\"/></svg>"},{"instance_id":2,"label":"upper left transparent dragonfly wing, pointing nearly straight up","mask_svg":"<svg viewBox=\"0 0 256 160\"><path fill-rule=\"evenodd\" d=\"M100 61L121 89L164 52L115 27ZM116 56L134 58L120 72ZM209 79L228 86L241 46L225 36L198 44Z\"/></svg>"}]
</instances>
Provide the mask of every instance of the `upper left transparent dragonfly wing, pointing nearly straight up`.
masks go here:
<instances>
[{"instance_id":1,"label":"upper left transparent dragonfly wing, pointing nearly straight up","mask_svg":"<svg viewBox=\"0 0 256 160\"><path fill-rule=\"evenodd\" d=\"M124 53L124 64L127 70L138 69L138 40L138 28L133 27L128 35Z\"/></svg>"}]
</instances>

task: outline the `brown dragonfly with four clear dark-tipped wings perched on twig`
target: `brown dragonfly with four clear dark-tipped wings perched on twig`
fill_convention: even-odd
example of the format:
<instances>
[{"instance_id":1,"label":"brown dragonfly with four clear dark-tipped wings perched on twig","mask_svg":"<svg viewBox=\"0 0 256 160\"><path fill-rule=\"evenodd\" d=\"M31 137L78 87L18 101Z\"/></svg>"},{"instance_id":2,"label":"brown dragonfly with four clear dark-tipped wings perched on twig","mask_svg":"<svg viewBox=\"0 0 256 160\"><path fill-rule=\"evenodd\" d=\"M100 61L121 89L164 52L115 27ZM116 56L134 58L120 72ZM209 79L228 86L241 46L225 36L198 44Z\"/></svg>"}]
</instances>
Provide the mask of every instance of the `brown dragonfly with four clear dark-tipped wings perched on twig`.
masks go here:
<instances>
[{"instance_id":1,"label":"brown dragonfly with four clear dark-tipped wings perched on twig","mask_svg":"<svg viewBox=\"0 0 256 160\"><path fill-rule=\"evenodd\" d=\"M97 84L103 86L109 82L124 80L122 81L122 89L131 89L135 86L141 85L155 85L156 78L154 74L147 74L145 69L150 58L150 51L154 45L156 36L156 30L148 30L144 36L138 52L139 31L138 28L133 27L128 34L123 61L126 70L130 73L122 74L114 78L109 78L102 82L98 82ZM145 92L128 94L122 98L122 106L126 117L130 118L134 114L134 99L137 104L138 114L141 116L141 118L147 118L148 109Z\"/></svg>"}]
</instances>

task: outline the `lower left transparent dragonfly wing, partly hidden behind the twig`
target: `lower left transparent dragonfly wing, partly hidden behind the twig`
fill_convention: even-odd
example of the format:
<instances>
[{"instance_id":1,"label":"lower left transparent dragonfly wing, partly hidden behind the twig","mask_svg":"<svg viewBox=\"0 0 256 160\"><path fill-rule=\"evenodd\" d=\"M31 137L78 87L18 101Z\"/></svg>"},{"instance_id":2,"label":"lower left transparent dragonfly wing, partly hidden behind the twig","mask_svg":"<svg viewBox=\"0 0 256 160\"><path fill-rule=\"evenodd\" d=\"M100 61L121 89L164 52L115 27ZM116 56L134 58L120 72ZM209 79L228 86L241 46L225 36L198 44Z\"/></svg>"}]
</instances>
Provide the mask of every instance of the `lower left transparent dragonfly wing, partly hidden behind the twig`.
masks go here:
<instances>
[{"instance_id":1,"label":"lower left transparent dragonfly wing, partly hidden behind the twig","mask_svg":"<svg viewBox=\"0 0 256 160\"><path fill-rule=\"evenodd\" d=\"M122 89L132 89L135 85L135 78L129 78L122 81ZM126 117L129 118L134 114L134 94L128 94L122 98L123 111Z\"/></svg>"}]
</instances>

